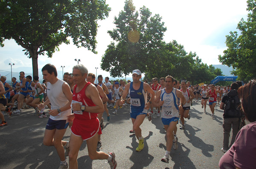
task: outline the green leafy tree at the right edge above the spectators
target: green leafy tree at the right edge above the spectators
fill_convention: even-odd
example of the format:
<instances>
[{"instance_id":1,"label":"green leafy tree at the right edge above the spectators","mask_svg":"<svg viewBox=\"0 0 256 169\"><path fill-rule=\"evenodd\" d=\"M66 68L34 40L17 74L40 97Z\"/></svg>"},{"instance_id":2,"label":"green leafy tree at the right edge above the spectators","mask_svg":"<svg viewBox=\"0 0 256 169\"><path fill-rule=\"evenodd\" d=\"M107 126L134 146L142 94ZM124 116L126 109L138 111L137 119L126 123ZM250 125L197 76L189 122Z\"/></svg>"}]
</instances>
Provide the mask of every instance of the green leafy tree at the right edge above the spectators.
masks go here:
<instances>
[{"instance_id":1,"label":"green leafy tree at the right edge above the spectators","mask_svg":"<svg viewBox=\"0 0 256 169\"><path fill-rule=\"evenodd\" d=\"M247 0L247 21L242 18L237 28L241 31L230 31L226 36L227 50L219 55L223 65L233 66L233 74L240 80L250 80L256 77L256 1Z\"/></svg>"}]
</instances>

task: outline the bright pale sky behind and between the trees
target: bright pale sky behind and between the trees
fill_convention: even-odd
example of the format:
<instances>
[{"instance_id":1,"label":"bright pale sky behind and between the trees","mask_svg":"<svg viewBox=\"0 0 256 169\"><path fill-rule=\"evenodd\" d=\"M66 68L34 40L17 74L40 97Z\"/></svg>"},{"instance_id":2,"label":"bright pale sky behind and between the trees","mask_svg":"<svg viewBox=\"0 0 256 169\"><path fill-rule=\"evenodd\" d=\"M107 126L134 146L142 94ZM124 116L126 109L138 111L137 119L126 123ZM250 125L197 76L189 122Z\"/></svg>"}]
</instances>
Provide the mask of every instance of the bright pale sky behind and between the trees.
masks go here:
<instances>
[{"instance_id":1,"label":"bright pale sky behind and between the trees","mask_svg":"<svg viewBox=\"0 0 256 169\"><path fill-rule=\"evenodd\" d=\"M55 52L52 58L46 55L38 57L39 74L47 63L55 65L59 71L62 71L61 66L65 66L64 72L72 72L72 67L77 64L74 59L80 59L79 63L85 65L89 72L96 74L95 68L99 68L97 75L110 76L100 69L100 63L107 45L112 41L107 31L115 28L114 17L118 17L123 10L124 2L125 0L106 0L111 12L106 20L98 22L98 54L93 54L87 48L76 48L70 40L70 45L62 44L60 51ZM236 31L241 18L247 18L246 0L133 0L133 3L136 10L144 5L152 15L160 14L167 28L165 42L176 40L184 46L187 53L196 52L207 65L220 64L218 55L222 55L226 49L225 35ZM0 48L0 70L10 70L8 64L15 63L13 68L28 67L32 73L32 60L24 55L23 48L14 40L6 40L4 43L5 46Z\"/></svg>"}]
</instances>

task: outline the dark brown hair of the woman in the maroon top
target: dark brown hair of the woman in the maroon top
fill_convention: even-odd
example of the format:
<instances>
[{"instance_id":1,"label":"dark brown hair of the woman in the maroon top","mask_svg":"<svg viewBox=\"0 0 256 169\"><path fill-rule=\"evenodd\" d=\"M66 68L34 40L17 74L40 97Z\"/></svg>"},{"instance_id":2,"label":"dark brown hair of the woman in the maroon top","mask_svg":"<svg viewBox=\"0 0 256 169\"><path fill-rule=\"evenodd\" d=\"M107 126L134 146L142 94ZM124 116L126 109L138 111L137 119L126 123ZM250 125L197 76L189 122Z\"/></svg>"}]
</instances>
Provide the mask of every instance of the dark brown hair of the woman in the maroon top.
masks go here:
<instances>
[{"instance_id":1,"label":"dark brown hair of the woman in the maroon top","mask_svg":"<svg viewBox=\"0 0 256 169\"><path fill-rule=\"evenodd\" d=\"M244 115L248 121L256 121L256 80L250 80L244 86L241 86L238 90L238 96L241 99L242 109L244 110Z\"/></svg>"}]
</instances>

